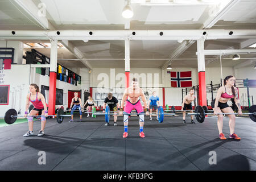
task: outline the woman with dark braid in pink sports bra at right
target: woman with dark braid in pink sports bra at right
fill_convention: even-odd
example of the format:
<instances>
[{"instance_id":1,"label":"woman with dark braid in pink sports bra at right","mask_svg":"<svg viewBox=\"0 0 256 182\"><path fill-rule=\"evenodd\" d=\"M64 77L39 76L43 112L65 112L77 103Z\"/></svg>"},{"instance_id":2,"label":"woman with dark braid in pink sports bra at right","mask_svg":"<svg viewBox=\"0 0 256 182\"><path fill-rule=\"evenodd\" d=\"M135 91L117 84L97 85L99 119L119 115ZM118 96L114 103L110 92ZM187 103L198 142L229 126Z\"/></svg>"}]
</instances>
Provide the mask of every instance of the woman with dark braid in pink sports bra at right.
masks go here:
<instances>
[{"instance_id":1,"label":"woman with dark braid in pink sports bra at right","mask_svg":"<svg viewBox=\"0 0 256 182\"><path fill-rule=\"evenodd\" d=\"M224 79L224 86L221 86L218 89L217 96L212 101L211 105L214 111L214 115L218 115L218 131L219 138L225 140L225 136L222 133L223 128L223 115L218 113L234 113L233 109L227 104L227 102L234 98L236 105L238 107L238 114L242 115L240 100L238 98L238 90L234 87L234 83L236 78L232 75L226 76ZM228 114L229 117L229 129L230 135L229 138L234 138L240 140L241 138L234 133L235 125L236 125L236 116L234 114Z\"/></svg>"}]
</instances>

